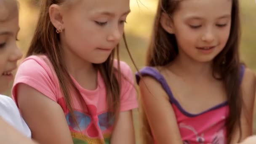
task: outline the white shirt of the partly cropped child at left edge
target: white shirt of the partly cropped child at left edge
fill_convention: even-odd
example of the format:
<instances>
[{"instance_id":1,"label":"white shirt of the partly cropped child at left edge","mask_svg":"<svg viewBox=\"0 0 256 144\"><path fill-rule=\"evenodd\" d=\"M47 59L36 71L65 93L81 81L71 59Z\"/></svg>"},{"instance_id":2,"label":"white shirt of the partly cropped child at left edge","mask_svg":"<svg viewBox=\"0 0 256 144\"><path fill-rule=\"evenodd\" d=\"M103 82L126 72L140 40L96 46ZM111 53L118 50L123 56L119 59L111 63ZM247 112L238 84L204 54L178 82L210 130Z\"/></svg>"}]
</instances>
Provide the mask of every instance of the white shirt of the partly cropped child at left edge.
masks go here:
<instances>
[{"instance_id":1,"label":"white shirt of the partly cropped child at left edge","mask_svg":"<svg viewBox=\"0 0 256 144\"><path fill-rule=\"evenodd\" d=\"M31 131L19 113L15 102L8 96L0 95L0 117L28 138Z\"/></svg>"}]
</instances>

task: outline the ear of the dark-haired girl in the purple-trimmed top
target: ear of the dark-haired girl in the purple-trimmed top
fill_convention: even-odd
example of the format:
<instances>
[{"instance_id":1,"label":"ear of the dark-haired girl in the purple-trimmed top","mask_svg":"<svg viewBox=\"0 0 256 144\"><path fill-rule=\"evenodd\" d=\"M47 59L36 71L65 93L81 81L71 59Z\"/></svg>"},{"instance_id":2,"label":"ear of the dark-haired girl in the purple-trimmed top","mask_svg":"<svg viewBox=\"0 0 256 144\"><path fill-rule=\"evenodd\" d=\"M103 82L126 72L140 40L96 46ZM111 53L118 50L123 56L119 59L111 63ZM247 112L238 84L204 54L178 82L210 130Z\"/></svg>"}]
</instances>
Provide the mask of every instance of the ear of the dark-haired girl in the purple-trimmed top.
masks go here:
<instances>
[{"instance_id":1,"label":"ear of the dark-haired girl in the purple-trimmed top","mask_svg":"<svg viewBox=\"0 0 256 144\"><path fill-rule=\"evenodd\" d=\"M169 34L174 34L173 21L167 13L162 13L160 18L160 24Z\"/></svg>"}]
</instances>

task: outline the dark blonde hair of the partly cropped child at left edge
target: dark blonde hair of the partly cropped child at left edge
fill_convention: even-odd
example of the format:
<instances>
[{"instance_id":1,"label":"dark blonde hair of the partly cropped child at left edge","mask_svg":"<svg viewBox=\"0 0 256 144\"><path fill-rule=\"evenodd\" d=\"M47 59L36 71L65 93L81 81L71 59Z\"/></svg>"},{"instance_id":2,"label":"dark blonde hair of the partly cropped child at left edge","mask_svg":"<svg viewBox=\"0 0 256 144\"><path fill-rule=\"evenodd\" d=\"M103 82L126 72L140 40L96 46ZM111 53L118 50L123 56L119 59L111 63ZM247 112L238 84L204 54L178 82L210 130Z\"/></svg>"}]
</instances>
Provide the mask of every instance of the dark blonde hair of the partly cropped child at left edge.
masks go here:
<instances>
[{"instance_id":1,"label":"dark blonde hair of the partly cropped child at left edge","mask_svg":"<svg viewBox=\"0 0 256 144\"><path fill-rule=\"evenodd\" d=\"M5 14L4 16L3 13ZM8 21L19 15L17 0L0 0L0 22Z\"/></svg>"}]
</instances>

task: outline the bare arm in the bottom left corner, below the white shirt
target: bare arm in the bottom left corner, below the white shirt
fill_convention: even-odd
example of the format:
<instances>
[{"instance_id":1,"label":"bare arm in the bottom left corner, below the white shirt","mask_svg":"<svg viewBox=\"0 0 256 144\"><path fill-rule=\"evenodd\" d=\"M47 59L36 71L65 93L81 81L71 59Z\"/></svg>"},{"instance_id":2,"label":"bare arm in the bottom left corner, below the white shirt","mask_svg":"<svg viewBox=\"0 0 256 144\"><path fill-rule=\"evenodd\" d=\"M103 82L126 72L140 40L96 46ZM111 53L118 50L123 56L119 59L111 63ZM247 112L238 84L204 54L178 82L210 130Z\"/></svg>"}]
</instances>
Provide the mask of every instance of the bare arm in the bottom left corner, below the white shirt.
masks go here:
<instances>
[{"instance_id":1,"label":"bare arm in the bottom left corner, below the white shirt","mask_svg":"<svg viewBox=\"0 0 256 144\"><path fill-rule=\"evenodd\" d=\"M38 144L27 138L11 125L0 118L0 143L1 144Z\"/></svg>"}]
</instances>

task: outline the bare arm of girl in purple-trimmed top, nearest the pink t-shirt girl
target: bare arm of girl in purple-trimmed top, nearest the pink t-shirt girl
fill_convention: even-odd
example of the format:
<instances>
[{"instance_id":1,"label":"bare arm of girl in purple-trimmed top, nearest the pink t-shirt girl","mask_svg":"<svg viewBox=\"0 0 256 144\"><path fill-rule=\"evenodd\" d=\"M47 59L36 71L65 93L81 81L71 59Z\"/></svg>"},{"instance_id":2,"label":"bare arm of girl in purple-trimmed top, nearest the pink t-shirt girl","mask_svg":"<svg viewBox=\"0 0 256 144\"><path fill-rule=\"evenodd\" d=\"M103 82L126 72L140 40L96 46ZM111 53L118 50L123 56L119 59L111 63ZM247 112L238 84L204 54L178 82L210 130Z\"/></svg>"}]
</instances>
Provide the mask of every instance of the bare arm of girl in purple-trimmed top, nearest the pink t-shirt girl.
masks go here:
<instances>
[{"instance_id":1,"label":"bare arm of girl in purple-trimmed top, nearest the pink t-shirt girl","mask_svg":"<svg viewBox=\"0 0 256 144\"><path fill-rule=\"evenodd\" d=\"M157 144L182 144L168 96L156 80L143 77L139 83L141 101Z\"/></svg>"}]
</instances>

